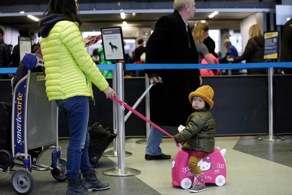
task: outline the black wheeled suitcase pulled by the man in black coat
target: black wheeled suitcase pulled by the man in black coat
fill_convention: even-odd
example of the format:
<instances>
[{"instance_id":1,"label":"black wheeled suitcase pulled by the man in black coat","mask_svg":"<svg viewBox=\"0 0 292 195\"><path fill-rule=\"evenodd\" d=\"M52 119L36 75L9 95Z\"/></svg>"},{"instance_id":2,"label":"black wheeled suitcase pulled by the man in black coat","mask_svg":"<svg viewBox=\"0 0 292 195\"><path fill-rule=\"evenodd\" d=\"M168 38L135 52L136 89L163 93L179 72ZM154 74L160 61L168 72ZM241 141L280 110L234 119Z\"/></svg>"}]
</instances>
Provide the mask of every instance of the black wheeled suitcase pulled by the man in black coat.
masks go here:
<instances>
[{"instance_id":1,"label":"black wheeled suitcase pulled by the man in black coat","mask_svg":"<svg viewBox=\"0 0 292 195\"><path fill-rule=\"evenodd\" d=\"M107 149L109 144L117 137L109 127L101 125L99 122L94 122L88 127L89 144L88 156L89 162L95 168L102 153Z\"/></svg>"}]
</instances>

